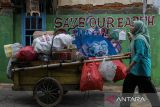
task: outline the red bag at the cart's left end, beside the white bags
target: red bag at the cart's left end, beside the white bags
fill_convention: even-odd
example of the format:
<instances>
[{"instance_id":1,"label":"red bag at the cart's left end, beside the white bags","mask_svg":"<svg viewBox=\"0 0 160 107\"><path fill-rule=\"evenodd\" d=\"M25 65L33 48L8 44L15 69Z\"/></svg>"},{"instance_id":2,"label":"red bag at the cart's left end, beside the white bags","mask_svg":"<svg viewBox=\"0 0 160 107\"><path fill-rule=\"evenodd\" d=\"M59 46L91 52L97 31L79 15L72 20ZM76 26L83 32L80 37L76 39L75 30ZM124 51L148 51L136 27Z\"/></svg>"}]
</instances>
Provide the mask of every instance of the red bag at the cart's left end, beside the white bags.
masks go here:
<instances>
[{"instance_id":1,"label":"red bag at the cart's left end, beside the white bags","mask_svg":"<svg viewBox=\"0 0 160 107\"><path fill-rule=\"evenodd\" d=\"M20 61L33 61L36 58L36 52L32 46L26 46L20 49L16 58Z\"/></svg>"}]
</instances>

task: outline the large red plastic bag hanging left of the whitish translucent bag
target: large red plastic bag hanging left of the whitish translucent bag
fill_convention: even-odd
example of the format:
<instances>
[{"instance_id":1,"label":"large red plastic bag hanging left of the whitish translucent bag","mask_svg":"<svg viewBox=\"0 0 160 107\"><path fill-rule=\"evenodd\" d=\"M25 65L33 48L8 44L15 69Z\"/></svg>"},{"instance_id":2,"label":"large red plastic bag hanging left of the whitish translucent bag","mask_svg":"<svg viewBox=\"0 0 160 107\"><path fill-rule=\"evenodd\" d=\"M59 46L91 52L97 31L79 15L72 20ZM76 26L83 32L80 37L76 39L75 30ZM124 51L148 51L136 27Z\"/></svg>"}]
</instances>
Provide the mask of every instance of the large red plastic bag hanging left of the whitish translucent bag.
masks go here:
<instances>
[{"instance_id":1,"label":"large red plastic bag hanging left of the whitish translucent bag","mask_svg":"<svg viewBox=\"0 0 160 107\"><path fill-rule=\"evenodd\" d=\"M80 90L103 90L103 79L95 62L83 65Z\"/></svg>"}]
</instances>

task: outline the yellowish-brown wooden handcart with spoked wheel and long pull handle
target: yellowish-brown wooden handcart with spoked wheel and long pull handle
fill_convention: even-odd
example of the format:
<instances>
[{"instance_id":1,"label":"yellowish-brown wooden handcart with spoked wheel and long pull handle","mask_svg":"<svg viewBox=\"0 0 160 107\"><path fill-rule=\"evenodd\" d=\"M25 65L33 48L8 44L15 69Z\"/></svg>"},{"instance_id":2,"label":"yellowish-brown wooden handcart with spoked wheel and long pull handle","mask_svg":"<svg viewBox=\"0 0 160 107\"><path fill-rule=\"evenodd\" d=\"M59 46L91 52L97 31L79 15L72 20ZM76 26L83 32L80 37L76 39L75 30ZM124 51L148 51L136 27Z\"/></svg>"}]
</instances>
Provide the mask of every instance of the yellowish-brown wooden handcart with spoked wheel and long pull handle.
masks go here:
<instances>
[{"instance_id":1,"label":"yellowish-brown wooden handcart with spoked wheel and long pull handle","mask_svg":"<svg viewBox=\"0 0 160 107\"><path fill-rule=\"evenodd\" d=\"M129 56L112 56L106 60L126 59ZM94 61L102 61L96 59ZM60 103L67 91L80 90L81 70L84 60L57 63L55 61L13 63L13 90L33 91L33 96L42 107L53 107Z\"/></svg>"}]
</instances>

